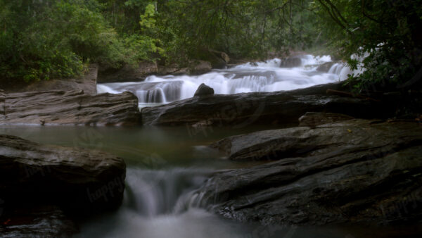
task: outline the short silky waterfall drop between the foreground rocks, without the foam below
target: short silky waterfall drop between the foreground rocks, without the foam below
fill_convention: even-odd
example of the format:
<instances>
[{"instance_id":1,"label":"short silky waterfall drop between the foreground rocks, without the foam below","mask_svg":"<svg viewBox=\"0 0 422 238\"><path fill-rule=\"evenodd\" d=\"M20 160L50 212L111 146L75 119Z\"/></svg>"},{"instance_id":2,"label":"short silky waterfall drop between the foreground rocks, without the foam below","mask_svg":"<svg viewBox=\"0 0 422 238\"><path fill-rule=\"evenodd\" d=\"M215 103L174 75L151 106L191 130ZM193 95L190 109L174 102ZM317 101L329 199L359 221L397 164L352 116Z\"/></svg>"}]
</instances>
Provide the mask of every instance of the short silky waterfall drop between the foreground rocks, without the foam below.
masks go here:
<instances>
[{"instance_id":1,"label":"short silky waterfall drop between the foreground rocks, without the foam below","mask_svg":"<svg viewBox=\"0 0 422 238\"><path fill-rule=\"evenodd\" d=\"M175 168L172 170L127 170L124 204L145 217L186 211L184 199L203 184L210 171Z\"/></svg>"}]
</instances>

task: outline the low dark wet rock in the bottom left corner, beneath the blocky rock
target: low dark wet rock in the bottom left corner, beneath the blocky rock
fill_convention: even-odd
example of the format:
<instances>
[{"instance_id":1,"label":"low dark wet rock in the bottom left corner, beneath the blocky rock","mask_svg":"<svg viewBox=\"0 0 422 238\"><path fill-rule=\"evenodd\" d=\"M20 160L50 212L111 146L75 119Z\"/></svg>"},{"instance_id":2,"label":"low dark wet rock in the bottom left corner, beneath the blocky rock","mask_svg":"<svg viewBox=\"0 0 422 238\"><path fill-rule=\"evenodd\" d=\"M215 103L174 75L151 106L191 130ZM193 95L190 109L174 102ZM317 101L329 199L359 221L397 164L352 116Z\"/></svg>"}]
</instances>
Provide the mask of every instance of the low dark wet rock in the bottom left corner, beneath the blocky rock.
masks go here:
<instances>
[{"instance_id":1,"label":"low dark wet rock in the bottom left corner, beneath the blocky rock","mask_svg":"<svg viewBox=\"0 0 422 238\"><path fill-rule=\"evenodd\" d=\"M1 237L71 237L77 225L58 206L14 208L0 216Z\"/></svg>"}]
</instances>

